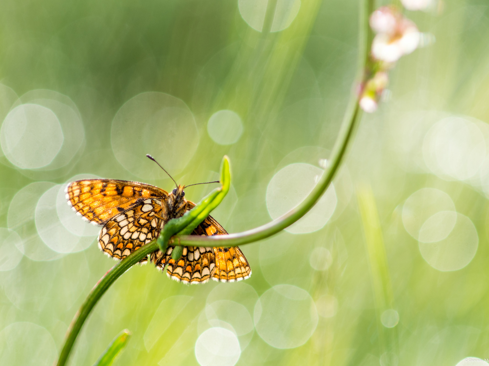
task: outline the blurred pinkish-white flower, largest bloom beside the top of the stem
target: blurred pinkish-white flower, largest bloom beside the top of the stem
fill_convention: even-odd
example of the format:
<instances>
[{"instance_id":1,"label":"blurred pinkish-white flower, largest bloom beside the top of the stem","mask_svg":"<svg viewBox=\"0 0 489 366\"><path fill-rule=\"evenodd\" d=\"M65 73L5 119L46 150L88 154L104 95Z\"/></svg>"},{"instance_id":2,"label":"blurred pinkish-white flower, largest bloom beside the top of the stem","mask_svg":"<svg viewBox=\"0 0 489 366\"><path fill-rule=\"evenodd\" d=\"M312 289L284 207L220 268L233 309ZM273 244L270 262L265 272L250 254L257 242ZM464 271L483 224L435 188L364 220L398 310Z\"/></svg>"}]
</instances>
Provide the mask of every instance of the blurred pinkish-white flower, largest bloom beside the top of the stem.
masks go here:
<instances>
[{"instance_id":1,"label":"blurred pinkish-white flower, largest bloom beside the top of the stem","mask_svg":"<svg viewBox=\"0 0 489 366\"><path fill-rule=\"evenodd\" d=\"M413 52L420 43L420 32L411 20L402 19L395 34L379 33L372 43L372 55L381 61L395 62Z\"/></svg>"}]
</instances>

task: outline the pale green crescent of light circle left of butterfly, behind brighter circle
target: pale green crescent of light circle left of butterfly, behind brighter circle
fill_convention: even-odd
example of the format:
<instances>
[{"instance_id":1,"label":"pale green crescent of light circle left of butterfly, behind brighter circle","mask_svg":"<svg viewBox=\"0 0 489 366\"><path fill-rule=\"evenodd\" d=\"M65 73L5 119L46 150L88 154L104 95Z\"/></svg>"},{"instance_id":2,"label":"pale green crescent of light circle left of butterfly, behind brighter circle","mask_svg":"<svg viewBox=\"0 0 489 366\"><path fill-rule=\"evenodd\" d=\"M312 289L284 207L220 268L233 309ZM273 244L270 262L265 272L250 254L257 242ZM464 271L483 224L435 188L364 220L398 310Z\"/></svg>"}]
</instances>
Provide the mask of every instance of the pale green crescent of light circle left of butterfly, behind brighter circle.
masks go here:
<instances>
[{"instance_id":1,"label":"pale green crescent of light circle left of butterfly, behind brighter circle","mask_svg":"<svg viewBox=\"0 0 489 366\"><path fill-rule=\"evenodd\" d=\"M7 225L16 231L22 239L23 253L34 261L52 261L63 256L46 244L38 235L34 221L36 206L41 196L55 184L34 182L19 190L8 207Z\"/></svg>"}]
</instances>

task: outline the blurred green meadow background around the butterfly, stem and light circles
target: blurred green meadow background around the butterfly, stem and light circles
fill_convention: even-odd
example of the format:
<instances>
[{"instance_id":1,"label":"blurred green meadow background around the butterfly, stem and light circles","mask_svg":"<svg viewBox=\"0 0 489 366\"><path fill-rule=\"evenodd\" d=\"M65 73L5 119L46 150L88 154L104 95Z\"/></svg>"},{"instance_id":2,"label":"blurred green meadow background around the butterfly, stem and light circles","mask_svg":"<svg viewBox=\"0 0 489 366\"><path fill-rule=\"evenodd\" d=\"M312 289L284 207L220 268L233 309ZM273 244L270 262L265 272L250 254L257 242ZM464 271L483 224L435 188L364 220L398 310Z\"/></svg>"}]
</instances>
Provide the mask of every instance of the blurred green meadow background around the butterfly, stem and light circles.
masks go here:
<instances>
[{"instance_id":1,"label":"blurred green meadow background around the butterfly, stem and light circles","mask_svg":"<svg viewBox=\"0 0 489 366\"><path fill-rule=\"evenodd\" d=\"M0 157L0 227L8 227L16 193L34 182L52 186L91 174L173 189L144 153L183 184L215 179L228 155L233 189L213 216L228 232L269 222L266 193L274 174L290 163L319 166L319 159L328 157L350 98L358 50L357 1L302 1L288 28L269 32L279 2L268 1L258 32L240 15L237 0L4 0L0 121L25 102L26 93L45 89L71 100L56 94L58 102L78 109L85 132L77 133L80 147L57 169L21 169ZM390 73L388 101L364 115L335 180L338 204L328 224L313 233L284 232L243 246L253 271L244 283L186 286L152 265L133 267L94 309L70 365L92 365L124 328L133 337L115 365L198 365L194 348L206 302L232 300L253 317L256 299L280 284L302 288L314 301L334 296L337 312L319 316L312 336L294 348L275 348L252 330L240 338L249 343L237 365L455 366L469 356L489 358L485 185L419 166L424 135L435 122L446 116L489 121L489 9L481 0L440 0L429 12L406 16L436 42L398 62ZM192 113L195 131L166 133L164 118L155 122L153 134L151 129L142 134L144 121L113 131L119 109L145 92L171 96L163 98L177 105L177 116ZM207 132L207 121L222 109L235 111L244 126L231 145L217 144ZM127 146L114 145L114 134ZM182 164L180 156L192 150ZM127 152L125 162L116 158L121 151ZM404 228L403 203L423 187L446 192L477 229L477 252L462 269L435 269ZM198 202L210 189L189 188L186 198ZM382 255L369 257L358 195L370 202L367 216L375 223L378 215L380 222L383 241L374 230L374 244L384 248L388 269L380 277L369 270L384 262ZM33 217L36 203L31 206L26 214ZM327 270L310 265L316 247L332 254ZM113 264L93 240L86 250L50 261L24 256L15 268L0 272L0 330L7 329L0 333L0 360L51 365L52 345L58 353L78 307ZM387 284L386 298L375 292L376 281ZM166 301L172 296L179 296L174 299L181 308ZM399 314L394 328L380 323L385 308ZM284 321L294 326L309 321L288 310L279 310ZM25 329L53 341L48 337L43 348L34 333L22 334ZM12 339L23 342L8 343L6 335L16 331L20 335ZM145 334L153 337L151 347ZM391 364L391 358L381 357L384 352L394 355Z\"/></svg>"}]
</instances>

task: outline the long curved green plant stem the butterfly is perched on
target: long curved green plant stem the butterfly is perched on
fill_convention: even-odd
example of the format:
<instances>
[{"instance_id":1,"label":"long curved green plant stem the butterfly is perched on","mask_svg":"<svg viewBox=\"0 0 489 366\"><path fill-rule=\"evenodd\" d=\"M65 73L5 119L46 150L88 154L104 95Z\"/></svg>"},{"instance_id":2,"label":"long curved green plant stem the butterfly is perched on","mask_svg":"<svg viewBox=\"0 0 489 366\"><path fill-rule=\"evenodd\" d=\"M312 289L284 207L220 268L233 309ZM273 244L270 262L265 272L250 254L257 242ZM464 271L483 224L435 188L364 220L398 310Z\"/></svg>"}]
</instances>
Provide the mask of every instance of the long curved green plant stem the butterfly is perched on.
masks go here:
<instances>
[{"instance_id":1,"label":"long curved green plant stem the butterfly is perched on","mask_svg":"<svg viewBox=\"0 0 489 366\"><path fill-rule=\"evenodd\" d=\"M368 16L373 10L373 3L373 0L362 1L358 39L359 62L354 89L356 89L356 86L363 81L363 74L366 62L368 61L368 54L370 52L369 40L372 39L372 35L369 28ZM352 97L350 99L345 117L341 124L340 132L338 134L338 137L336 138L336 142L334 143L333 151L327 163L323 176L316 184L312 192L309 194L309 196L301 204L290 210L285 215L268 224L241 233L215 235L210 237L203 237L198 235L175 236L170 239L168 244L184 246L236 246L265 239L295 223L314 206L314 204L321 198L323 193L332 182L334 175L337 172L338 167L340 166L340 163L345 155L348 143L352 138L356 124L359 121L360 117L361 110L358 106L358 95L355 92L352 92ZM93 287L93 289L89 293L89 296L80 307L78 312L75 314L75 317L68 329L65 344L60 353L57 366L66 365L68 356L83 324L89 316L90 311L93 309L98 300L100 300L105 291L107 291L107 289L115 282L115 280L119 278L119 276L121 276L125 271L127 271L134 264L137 264L143 258L147 257L148 254L151 254L157 249L158 244L156 244L156 240L143 245L141 248L127 256L124 260L114 265L111 270L107 272L106 275L102 277L102 279Z\"/></svg>"}]
</instances>

